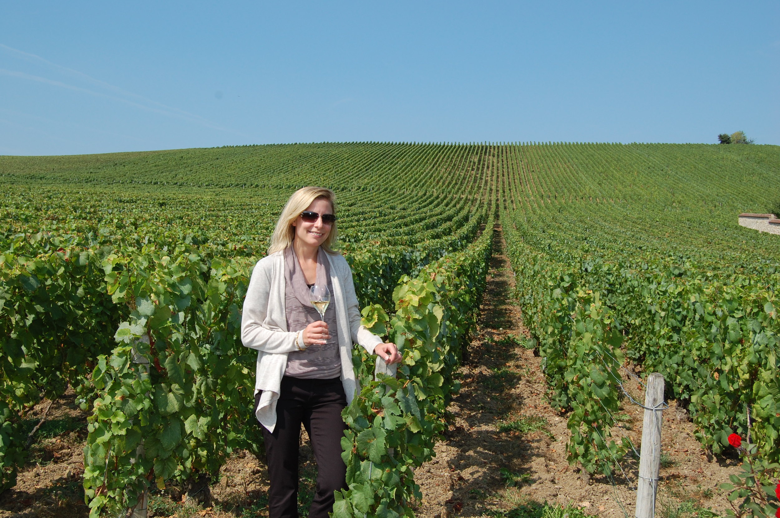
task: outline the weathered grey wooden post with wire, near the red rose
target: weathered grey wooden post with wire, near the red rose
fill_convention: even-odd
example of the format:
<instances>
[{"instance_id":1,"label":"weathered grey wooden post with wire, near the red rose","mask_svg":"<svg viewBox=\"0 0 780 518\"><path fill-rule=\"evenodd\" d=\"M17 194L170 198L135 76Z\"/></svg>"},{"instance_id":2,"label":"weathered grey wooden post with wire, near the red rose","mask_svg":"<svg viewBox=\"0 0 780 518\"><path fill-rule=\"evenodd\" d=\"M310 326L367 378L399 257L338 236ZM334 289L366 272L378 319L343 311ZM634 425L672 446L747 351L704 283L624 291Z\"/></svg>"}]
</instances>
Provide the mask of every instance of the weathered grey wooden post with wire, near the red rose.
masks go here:
<instances>
[{"instance_id":1,"label":"weathered grey wooden post with wire, near the red rose","mask_svg":"<svg viewBox=\"0 0 780 518\"><path fill-rule=\"evenodd\" d=\"M653 372L647 377L644 393L642 449L639 481L636 483L636 518L655 516L655 494L658 491L658 469L661 467L661 421L664 403L664 376ZM657 409L657 410L651 410Z\"/></svg>"}]
</instances>

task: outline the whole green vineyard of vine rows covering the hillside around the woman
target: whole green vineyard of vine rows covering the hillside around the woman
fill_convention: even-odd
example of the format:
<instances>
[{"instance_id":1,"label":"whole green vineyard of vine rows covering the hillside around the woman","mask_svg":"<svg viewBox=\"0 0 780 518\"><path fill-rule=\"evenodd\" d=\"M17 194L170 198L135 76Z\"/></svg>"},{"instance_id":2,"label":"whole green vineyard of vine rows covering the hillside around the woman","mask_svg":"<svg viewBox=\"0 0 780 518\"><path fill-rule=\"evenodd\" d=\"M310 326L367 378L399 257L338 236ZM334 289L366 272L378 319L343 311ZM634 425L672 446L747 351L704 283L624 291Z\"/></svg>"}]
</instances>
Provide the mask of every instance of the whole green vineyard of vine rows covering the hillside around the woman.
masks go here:
<instances>
[{"instance_id":1,"label":"whole green vineyard of vine rows covering the hillside around the woman","mask_svg":"<svg viewBox=\"0 0 780 518\"><path fill-rule=\"evenodd\" d=\"M304 185L337 194L363 322L402 345L397 379L345 413L336 518L413 516L414 470L447 428L500 228L514 297L568 419L569 463L612 474L627 375L661 372L700 444L750 437L778 462L777 146L322 143L0 157L0 489L28 455L30 407L71 387L90 413L92 516L147 488L216 481L247 426L239 338L252 267ZM139 447L142 446L143 453Z\"/></svg>"}]
</instances>

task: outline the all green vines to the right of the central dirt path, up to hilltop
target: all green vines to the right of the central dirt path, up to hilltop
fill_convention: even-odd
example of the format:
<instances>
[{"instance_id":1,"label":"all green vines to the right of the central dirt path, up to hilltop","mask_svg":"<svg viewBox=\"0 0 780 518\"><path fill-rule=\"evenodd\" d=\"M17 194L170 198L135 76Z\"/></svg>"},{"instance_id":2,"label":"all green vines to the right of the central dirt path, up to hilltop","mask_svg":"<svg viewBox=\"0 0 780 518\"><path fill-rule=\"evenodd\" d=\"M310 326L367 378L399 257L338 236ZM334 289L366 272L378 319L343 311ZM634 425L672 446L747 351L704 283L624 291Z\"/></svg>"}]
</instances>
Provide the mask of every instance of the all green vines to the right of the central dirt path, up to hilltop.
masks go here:
<instances>
[{"instance_id":1,"label":"all green vines to the right of the central dirt path, up to hilltop","mask_svg":"<svg viewBox=\"0 0 780 518\"><path fill-rule=\"evenodd\" d=\"M715 453L729 433L746 435L750 409L751 417L759 416L751 435L777 460L778 241L736 224L737 213L775 201L766 189L737 185L746 185L748 170L775 185L777 153L644 145L518 152L523 169L509 162L504 174L540 172L527 177L523 198L519 184L509 189L509 197L523 203L502 213L502 227L552 399L572 410L570 429L585 425L579 435L573 430L569 460L588 468L598 456L614 464L625 450L600 442L608 442L605 432L615 425L624 356L645 372L661 372L668 393L690 400L697 438ZM547 186L544 203L538 185ZM582 340L583 348L573 340ZM591 367L605 369L596 377L606 376L608 384L596 390L573 385L592 381ZM578 396L590 397L590 408Z\"/></svg>"}]
</instances>

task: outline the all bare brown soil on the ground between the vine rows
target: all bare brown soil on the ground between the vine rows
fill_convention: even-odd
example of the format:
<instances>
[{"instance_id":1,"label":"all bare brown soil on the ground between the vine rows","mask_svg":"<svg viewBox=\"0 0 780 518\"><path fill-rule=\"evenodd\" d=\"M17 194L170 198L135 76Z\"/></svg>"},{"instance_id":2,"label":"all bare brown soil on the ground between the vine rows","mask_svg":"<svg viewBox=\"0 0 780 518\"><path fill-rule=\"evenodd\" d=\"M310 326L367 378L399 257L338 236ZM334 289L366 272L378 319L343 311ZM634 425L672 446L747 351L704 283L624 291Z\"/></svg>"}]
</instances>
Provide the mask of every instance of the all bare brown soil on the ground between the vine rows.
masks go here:
<instances>
[{"instance_id":1,"label":"all bare brown soil on the ground between the vine rows","mask_svg":"<svg viewBox=\"0 0 780 518\"><path fill-rule=\"evenodd\" d=\"M524 347L529 333L519 307L512 305L513 286L499 238L479 326L457 373L462 389L448 408L449 431L436 446L435 458L415 473L423 493L417 515L517 518L530 502L573 502L598 516L633 516L635 459L622 460L623 472L612 478L583 477L579 468L569 466L567 416L549 406L541 358ZM639 383L626 386L636 400L644 400ZM30 428L47 406L43 401L29 412ZM662 430L658 516L722 516L728 502L718 485L739 471L738 460L708 455L693 438L686 412L675 402L670 406ZM622 427L613 435L628 436L638 450L642 409L627 403L618 417ZM72 392L52 404L16 487L0 495L0 518L88 515L82 488L86 418ZM519 421L534 422L539 429L522 432L516 426ZM316 467L305 432L302 435L299 509L306 516ZM211 502L205 504L183 504L182 488L173 485L155 490L150 516L268 516L268 473L250 453L234 453L213 482Z\"/></svg>"}]
</instances>

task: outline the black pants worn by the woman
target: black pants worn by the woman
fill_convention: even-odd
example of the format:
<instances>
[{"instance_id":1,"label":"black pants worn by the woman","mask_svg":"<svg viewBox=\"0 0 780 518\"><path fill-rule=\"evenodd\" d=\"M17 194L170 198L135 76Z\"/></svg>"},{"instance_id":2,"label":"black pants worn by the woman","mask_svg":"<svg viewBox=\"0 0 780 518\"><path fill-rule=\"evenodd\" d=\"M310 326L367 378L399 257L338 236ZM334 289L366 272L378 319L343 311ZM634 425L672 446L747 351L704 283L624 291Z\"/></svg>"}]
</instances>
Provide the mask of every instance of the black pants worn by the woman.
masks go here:
<instances>
[{"instance_id":1,"label":"black pants worn by the woman","mask_svg":"<svg viewBox=\"0 0 780 518\"><path fill-rule=\"evenodd\" d=\"M317 490L309 509L310 518L328 518L333 512L333 492L346 488L346 465L341 439L346 425L341 411L346 395L341 379L299 379L284 376L276 404L274 432L263 429L268 459L268 518L298 517L298 446L300 425L306 428L317 459ZM261 392L254 398L260 402Z\"/></svg>"}]
</instances>

